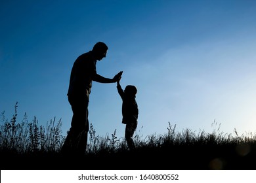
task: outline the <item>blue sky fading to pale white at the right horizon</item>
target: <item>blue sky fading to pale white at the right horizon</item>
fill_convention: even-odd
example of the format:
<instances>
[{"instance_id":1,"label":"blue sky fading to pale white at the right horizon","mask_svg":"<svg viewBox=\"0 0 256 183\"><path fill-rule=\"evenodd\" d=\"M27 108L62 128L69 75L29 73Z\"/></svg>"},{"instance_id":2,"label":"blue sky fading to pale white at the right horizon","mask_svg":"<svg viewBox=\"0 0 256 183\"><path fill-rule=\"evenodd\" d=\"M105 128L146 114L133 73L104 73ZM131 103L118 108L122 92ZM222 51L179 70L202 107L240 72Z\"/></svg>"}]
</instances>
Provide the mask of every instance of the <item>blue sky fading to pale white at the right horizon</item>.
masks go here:
<instances>
[{"instance_id":1,"label":"blue sky fading to pale white at the right horizon","mask_svg":"<svg viewBox=\"0 0 256 183\"><path fill-rule=\"evenodd\" d=\"M137 86L137 133L256 132L256 2L1 1L0 112L18 101L39 124L56 117L70 128L66 93L72 65L102 41L97 72ZM124 136L116 84L93 83L89 120L96 134Z\"/></svg>"}]
</instances>

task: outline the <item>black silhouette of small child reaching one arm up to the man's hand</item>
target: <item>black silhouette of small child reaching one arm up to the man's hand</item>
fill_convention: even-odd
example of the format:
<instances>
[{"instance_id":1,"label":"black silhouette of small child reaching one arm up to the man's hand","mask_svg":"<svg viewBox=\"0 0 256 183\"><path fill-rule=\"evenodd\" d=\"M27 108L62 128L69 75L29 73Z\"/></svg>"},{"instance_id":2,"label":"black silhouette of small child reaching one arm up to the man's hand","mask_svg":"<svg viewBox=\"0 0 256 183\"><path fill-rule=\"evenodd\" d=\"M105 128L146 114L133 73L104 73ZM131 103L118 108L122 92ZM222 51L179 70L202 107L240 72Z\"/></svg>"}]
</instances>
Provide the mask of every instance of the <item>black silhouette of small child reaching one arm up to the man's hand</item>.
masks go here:
<instances>
[{"instance_id":1,"label":"black silhouette of small child reaching one arm up to the man's hand","mask_svg":"<svg viewBox=\"0 0 256 183\"><path fill-rule=\"evenodd\" d=\"M134 150L133 134L138 125L139 109L136 101L137 88L133 85L127 85L125 90L120 85L121 76L117 80L117 92L119 93L122 103L122 123L125 124L125 140L130 150Z\"/></svg>"}]
</instances>

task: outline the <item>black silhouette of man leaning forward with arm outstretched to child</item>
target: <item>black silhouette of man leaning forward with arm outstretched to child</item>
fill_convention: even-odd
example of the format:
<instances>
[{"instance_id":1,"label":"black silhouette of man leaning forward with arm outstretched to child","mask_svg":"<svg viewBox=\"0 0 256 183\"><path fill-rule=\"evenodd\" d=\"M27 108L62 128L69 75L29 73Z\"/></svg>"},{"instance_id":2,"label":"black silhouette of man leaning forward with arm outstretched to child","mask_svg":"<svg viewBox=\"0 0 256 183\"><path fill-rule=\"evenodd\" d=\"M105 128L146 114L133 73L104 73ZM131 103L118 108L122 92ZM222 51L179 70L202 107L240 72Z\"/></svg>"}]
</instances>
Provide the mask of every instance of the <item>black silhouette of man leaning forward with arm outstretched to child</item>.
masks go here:
<instances>
[{"instance_id":1,"label":"black silhouette of man leaning forward with arm outstretched to child","mask_svg":"<svg viewBox=\"0 0 256 183\"><path fill-rule=\"evenodd\" d=\"M114 78L105 78L96 73L96 61L105 58L107 51L108 46L104 42L97 42L91 51L81 54L74 62L67 94L73 117L61 149L64 154L83 155L85 153L89 131L88 105L92 82L114 83L123 73L120 71Z\"/></svg>"}]
</instances>

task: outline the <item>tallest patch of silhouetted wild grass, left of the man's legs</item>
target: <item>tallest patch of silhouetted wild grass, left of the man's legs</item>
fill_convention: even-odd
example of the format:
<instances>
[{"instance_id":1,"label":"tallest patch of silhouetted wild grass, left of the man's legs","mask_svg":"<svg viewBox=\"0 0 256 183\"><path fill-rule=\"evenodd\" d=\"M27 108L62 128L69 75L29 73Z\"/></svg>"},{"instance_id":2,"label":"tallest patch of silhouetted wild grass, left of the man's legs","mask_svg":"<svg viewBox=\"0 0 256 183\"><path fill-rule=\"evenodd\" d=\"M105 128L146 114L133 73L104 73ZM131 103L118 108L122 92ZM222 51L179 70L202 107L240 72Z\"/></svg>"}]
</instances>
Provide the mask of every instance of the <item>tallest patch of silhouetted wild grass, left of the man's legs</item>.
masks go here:
<instances>
[{"instance_id":1,"label":"tallest patch of silhouetted wild grass, left of the man's legs","mask_svg":"<svg viewBox=\"0 0 256 183\"><path fill-rule=\"evenodd\" d=\"M14 106L11 120L5 118L5 111L1 112L0 150L12 154L30 154L35 152L59 152L65 137L61 135L62 121L56 119L47 122L46 128L39 125L34 116L28 121L25 113L18 122L18 102Z\"/></svg>"}]
</instances>

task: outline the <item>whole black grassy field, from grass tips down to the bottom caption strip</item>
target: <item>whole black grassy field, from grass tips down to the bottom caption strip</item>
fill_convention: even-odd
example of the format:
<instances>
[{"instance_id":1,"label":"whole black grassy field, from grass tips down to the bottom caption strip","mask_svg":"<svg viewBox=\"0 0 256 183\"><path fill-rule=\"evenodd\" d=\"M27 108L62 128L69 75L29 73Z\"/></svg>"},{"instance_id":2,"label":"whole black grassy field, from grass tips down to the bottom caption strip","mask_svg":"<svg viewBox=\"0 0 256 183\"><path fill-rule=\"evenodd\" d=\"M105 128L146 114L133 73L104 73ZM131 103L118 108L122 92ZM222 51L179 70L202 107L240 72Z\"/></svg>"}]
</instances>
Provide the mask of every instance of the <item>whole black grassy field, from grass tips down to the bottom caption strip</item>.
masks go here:
<instances>
[{"instance_id":1,"label":"whole black grassy field, from grass tips down to the bottom caption strip","mask_svg":"<svg viewBox=\"0 0 256 183\"><path fill-rule=\"evenodd\" d=\"M17 122L18 103L11 120L1 113L0 150L1 169L256 169L256 135L235 136L220 131L212 133L190 129L175 131L167 127L163 135L135 135L136 149L129 151L124 139L96 135L89 129L87 153L82 157L61 156L62 121L54 118L46 127L38 125L37 118L28 122L26 114Z\"/></svg>"}]
</instances>

